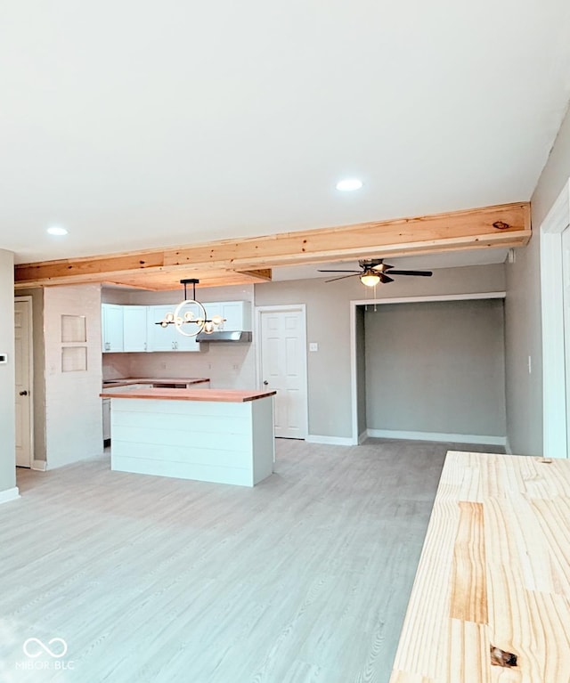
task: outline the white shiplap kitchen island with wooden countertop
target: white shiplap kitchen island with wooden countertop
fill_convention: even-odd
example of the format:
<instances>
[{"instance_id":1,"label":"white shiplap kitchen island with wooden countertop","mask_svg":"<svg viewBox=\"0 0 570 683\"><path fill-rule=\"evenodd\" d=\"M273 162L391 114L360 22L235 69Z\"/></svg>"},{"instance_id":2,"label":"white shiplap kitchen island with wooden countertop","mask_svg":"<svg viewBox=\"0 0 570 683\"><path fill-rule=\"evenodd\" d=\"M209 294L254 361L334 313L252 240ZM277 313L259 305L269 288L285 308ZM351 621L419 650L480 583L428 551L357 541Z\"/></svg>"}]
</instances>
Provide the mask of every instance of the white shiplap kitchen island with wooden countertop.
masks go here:
<instances>
[{"instance_id":1,"label":"white shiplap kitchen island with wooden countertop","mask_svg":"<svg viewBox=\"0 0 570 683\"><path fill-rule=\"evenodd\" d=\"M111 469L254 486L273 472L274 391L107 389Z\"/></svg>"}]
</instances>

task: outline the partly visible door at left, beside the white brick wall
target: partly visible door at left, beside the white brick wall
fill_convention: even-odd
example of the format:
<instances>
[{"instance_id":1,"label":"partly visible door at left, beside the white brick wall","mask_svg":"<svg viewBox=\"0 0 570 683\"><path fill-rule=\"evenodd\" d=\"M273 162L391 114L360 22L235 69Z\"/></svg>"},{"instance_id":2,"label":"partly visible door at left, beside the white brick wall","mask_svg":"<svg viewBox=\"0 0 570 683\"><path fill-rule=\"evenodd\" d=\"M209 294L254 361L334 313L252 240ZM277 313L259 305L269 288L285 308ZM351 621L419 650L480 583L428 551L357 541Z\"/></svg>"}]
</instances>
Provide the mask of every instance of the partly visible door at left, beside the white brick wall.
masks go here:
<instances>
[{"instance_id":1,"label":"partly visible door at left, beside the white brick wall","mask_svg":"<svg viewBox=\"0 0 570 683\"><path fill-rule=\"evenodd\" d=\"M32 329L31 301L16 299L14 302L16 375L16 466L31 468L33 459L32 439Z\"/></svg>"}]
</instances>

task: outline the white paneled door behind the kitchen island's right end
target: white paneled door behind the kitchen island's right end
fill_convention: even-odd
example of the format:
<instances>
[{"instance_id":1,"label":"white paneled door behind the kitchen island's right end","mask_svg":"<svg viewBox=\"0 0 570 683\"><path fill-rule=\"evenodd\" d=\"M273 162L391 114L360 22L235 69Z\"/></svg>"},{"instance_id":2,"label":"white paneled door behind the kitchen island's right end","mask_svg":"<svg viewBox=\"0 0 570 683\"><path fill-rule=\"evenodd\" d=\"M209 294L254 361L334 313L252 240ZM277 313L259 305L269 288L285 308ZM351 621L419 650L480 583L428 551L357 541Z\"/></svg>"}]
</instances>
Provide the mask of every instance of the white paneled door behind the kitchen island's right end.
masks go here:
<instances>
[{"instance_id":1,"label":"white paneled door behind the kitchen island's right end","mask_svg":"<svg viewBox=\"0 0 570 683\"><path fill-rule=\"evenodd\" d=\"M305 307L259 310L260 369L264 388L275 389L275 436L307 435Z\"/></svg>"}]
</instances>

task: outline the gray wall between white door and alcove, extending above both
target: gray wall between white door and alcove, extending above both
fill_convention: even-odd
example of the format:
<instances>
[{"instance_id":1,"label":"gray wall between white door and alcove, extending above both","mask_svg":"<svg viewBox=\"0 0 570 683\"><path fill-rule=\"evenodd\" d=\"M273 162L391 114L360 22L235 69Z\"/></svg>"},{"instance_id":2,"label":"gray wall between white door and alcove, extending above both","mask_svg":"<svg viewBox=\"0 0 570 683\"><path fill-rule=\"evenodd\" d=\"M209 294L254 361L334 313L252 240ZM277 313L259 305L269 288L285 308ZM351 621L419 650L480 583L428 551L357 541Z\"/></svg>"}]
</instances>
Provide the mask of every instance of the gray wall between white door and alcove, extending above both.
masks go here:
<instances>
[{"instance_id":1,"label":"gray wall between white door and alcove, extending above both","mask_svg":"<svg viewBox=\"0 0 570 683\"><path fill-rule=\"evenodd\" d=\"M377 289L378 297L426 297L504 291L504 265L442 268L432 278L405 278ZM350 438L352 392L350 302L372 296L358 278L299 280L255 286L256 305L306 305L309 434ZM428 395L426 395L428 400Z\"/></svg>"}]
</instances>

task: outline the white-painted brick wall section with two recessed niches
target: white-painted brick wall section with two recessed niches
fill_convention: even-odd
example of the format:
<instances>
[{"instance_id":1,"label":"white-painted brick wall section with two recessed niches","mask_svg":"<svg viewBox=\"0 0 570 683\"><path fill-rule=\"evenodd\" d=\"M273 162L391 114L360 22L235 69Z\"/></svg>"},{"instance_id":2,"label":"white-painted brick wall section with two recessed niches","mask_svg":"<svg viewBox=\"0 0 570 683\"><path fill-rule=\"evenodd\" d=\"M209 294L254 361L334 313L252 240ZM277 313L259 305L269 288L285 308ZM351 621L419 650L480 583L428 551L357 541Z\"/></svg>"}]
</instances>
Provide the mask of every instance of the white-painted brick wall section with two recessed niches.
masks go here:
<instances>
[{"instance_id":1,"label":"white-painted brick wall section with two recessed niches","mask_svg":"<svg viewBox=\"0 0 570 683\"><path fill-rule=\"evenodd\" d=\"M87 370L61 371L61 315L85 315ZM44 293L47 468L102 453L101 289L48 287Z\"/></svg>"}]
</instances>

